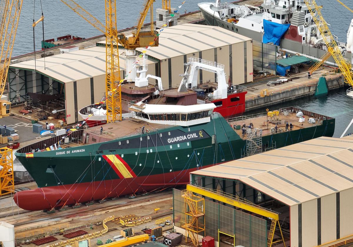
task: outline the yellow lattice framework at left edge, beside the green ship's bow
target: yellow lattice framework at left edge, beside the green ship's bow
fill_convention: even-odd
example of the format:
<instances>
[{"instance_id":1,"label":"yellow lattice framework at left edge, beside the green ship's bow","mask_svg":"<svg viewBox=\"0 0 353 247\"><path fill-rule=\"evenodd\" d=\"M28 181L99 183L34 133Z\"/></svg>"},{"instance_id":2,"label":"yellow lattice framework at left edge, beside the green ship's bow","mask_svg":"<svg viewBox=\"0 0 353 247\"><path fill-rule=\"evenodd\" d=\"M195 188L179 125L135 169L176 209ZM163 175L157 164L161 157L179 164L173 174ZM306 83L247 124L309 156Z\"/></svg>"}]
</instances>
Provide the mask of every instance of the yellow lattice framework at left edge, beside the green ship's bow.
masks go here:
<instances>
[{"instance_id":1,"label":"yellow lattice framework at left edge, beside the green ship's bow","mask_svg":"<svg viewBox=\"0 0 353 247\"><path fill-rule=\"evenodd\" d=\"M12 149L1 147L0 149L0 196L13 193L13 159Z\"/></svg>"}]
</instances>

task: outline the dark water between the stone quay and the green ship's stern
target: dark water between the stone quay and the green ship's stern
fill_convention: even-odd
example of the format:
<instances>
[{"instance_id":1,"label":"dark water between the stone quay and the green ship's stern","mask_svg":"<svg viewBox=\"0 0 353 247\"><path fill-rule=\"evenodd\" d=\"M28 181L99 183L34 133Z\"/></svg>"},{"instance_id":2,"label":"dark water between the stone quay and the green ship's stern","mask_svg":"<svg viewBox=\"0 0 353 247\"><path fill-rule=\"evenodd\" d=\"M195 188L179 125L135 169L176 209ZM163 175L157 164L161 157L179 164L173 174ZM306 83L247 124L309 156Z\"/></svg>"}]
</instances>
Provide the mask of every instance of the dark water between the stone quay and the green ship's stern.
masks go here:
<instances>
[{"instance_id":1,"label":"dark water between the stone quay and the green ship's stern","mask_svg":"<svg viewBox=\"0 0 353 247\"><path fill-rule=\"evenodd\" d=\"M334 137L340 137L353 118L353 99L346 95L346 88L332 90L328 95L319 97L308 96L281 104L275 104L268 108L269 110L275 110L289 106L298 107L335 118L336 125ZM266 112L266 108L253 110L251 112L246 112L245 114L250 115L263 112ZM353 132L353 125L349 128L347 133L349 132Z\"/></svg>"}]
</instances>

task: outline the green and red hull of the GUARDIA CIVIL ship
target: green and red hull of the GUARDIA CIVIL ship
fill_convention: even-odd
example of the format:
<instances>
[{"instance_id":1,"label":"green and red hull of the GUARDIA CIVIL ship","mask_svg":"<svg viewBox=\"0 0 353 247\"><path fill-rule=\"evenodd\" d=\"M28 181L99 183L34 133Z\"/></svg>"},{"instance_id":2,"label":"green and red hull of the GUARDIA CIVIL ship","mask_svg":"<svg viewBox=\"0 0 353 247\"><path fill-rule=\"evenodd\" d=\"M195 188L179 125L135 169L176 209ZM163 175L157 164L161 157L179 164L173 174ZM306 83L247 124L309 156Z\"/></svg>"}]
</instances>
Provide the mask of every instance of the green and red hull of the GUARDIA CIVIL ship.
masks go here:
<instances>
[{"instance_id":1,"label":"green and red hull of the GUARDIA CIVIL ship","mask_svg":"<svg viewBox=\"0 0 353 247\"><path fill-rule=\"evenodd\" d=\"M279 148L332 137L334 128L335 119L328 119L321 125L263 136L262 144ZM16 152L38 188L17 192L14 200L25 210L50 210L158 191L187 183L190 171L241 158L245 146L246 140L214 113L210 122L191 127L172 126L158 133L36 152L31 158Z\"/></svg>"}]
</instances>

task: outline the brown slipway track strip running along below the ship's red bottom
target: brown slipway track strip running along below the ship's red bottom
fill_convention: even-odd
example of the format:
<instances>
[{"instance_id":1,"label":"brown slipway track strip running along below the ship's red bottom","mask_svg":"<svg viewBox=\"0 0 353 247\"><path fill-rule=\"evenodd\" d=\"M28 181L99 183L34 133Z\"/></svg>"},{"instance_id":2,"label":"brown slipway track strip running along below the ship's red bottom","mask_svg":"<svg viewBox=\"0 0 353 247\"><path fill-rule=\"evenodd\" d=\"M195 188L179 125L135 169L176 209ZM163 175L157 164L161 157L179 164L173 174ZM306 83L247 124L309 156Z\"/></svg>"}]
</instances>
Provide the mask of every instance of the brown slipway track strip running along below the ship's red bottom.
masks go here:
<instances>
[{"instance_id":1,"label":"brown slipway track strip running along below the ship's red bottom","mask_svg":"<svg viewBox=\"0 0 353 247\"><path fill-rule=\"evenodd\" d=\"M123 209L133 208L137 206L147 205L172 199L172 192L161 192L151 194L145 197L137 197L134 199L119 198L116 200L108 200L102 204L95 203L90 206L82 205L79 208L67 208L65 211L57 211L48 214L43 211L26 211L22 210L12 215L12 211L3 212L0 215L0 221L13 224L15 232L40 228L48 225L60 224L72 221L77 218L102 215L104 213L116 212ZM9 215L11 213L11 215Z\"/></svg>"}]
</instances>

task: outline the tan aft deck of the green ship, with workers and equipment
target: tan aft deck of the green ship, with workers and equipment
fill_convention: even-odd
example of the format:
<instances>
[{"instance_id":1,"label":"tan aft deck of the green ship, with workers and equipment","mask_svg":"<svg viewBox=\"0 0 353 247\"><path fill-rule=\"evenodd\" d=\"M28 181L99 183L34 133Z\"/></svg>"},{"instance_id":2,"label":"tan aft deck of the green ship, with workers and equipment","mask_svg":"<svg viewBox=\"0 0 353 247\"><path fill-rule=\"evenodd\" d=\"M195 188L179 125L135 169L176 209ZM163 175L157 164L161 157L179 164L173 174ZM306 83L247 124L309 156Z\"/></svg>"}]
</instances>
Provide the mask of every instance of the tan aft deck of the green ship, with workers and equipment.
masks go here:
<instances>
[{"instance_id":1,"label":"tan aft deck of the green ship, with workers and equipment","mask_svg":"<svg viewBox=\"0 0 353 247\"><path fill-rule=\"evenodd\" d=\"M288 115L284 115L283 110L288 110L290 113ZM293 110L293 112L292 112ZM299 122L299 117L296 116L296 111L301 110L298 108L294 107L288 107L288 108L282 108L279 110L280 114L278 116L273 116L269 117L267 116L267 113L262 113L262 114L254 114L254 115L248 115L248 116L239 116L235 118L230 118L227 119L229 124L233 127L234 125L240 125L240 129L234 129L234 131L239 135L240 138L243 140L246 140L247 134L243 135L242 133L242 125L245 123L246 129L248 129L248 126L250 123L253 124L254 128L259 128L262 129L262 135L270 135L271 133L271 128L274 128L276 123L277 123L277 133L285 132L286 131L286 122L288 124L292 123L293 128L292 131L298 130L298 129L303 129L303 128L309 128L312 126L319 126L322 125L322 120L324 119L331 119L328 116L323 116L320 114L312 113L309 111L301 110L304 114L305 122ZM309 118L314 118L315 123L309 123L308 120ZM288 131L289 127L288 127Z\"/></svg>"}]
</instances>

